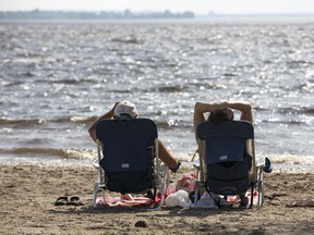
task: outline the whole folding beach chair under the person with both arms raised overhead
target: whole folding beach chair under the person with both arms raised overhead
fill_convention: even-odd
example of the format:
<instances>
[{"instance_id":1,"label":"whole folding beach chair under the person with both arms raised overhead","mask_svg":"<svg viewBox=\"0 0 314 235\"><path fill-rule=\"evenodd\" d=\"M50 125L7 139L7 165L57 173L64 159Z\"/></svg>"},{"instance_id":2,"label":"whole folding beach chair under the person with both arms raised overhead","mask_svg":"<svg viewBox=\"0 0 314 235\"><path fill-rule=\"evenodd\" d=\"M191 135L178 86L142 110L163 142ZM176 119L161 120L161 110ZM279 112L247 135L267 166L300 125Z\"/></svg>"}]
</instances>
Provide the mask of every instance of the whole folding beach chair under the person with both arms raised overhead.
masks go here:
<instances>
[{"instance_id":1,"label":"whole folding beach chair under the person with both arms raised overhead","mask_svg":"<svg viewBox=\"0 0 314 235\"><path fill-rule=\"evenodd\" d=\"M270 161L265 158L256 163L254 128L246 121L227 121L213 125L208 121L197 126L200 146L197 180L195 182L194 203L204 188L208 194L221 196L225 202L229 196L239 196L241 205L252 208L254 191L257 193L256 207L263 205L264 172L271 172ZM245 193L251 189L251 200ZM219 207L219 198L215 201Z\"/></svg>"}]
</instances>

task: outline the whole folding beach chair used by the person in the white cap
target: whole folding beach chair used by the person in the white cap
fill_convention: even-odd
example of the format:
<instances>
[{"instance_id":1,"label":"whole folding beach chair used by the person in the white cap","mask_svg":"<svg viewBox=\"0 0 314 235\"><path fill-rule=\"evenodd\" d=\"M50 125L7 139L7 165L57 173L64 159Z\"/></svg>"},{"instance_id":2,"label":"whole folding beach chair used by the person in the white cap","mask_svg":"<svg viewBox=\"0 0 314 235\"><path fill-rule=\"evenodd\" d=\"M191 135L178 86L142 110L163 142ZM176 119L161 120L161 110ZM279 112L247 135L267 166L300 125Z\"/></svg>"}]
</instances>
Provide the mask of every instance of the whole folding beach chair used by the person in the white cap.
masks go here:
<instances>
[{"instance_id":1,"label":"whole folding beach chair used by the person in the white cap","mask_svg":"<svg viewBox=\"0 0 314 235\"><path fill-rule=\"evenodd\" d=\"M147 194L155 201L160 193L158 210L169 182L169 170L158 156L156 123L148 119L102 120L96 126L98 158L94 162L97 176L93 206L98 191L121 194Z\"/></svg>"}]
</instances>

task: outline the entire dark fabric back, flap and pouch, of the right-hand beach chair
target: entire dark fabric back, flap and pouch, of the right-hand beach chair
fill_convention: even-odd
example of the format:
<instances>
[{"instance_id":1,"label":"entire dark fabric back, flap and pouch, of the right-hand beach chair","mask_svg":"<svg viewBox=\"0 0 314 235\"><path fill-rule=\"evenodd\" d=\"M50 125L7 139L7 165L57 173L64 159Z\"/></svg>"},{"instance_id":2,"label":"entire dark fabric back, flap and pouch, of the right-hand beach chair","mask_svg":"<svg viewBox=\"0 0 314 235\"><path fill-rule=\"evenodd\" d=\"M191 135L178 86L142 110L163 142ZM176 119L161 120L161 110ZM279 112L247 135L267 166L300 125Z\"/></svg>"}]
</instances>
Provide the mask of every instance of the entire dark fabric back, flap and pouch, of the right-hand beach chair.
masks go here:
<instances>
[{"instance_id":1,"label":"entire dark fabric back, flap and pouch, of the right-hand beach chair","mask_svg":"<svg viewBox=\"0 0 314 235\"><path fill-rule=\"evenodd\" d=\"M249 187L252 157L246 140L254 139L254 129L245 121L228 121L218 125L203 122L197 138L205 141L206 186L218 195L238 195Z\"/></svg>"}]
</instances>

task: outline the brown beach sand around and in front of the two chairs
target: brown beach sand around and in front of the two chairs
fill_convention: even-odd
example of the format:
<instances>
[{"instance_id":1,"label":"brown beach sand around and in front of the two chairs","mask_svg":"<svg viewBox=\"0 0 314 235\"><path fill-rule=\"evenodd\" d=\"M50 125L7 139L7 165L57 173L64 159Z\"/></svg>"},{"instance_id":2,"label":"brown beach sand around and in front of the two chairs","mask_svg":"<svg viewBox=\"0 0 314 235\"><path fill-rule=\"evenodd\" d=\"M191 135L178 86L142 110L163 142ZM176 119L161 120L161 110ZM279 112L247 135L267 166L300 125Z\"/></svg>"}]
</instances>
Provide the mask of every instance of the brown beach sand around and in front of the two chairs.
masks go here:
<instances>
[{"instance_id":1,"label":"brown beach sand around and in front of the two chairs","mask_svg":"<svg viewBox=\"0 0 314 235\"><path fill-rule=\"evenodd\" d=\"M0 165L0 234L313 234L314 207L287 207L312 198L314 173L265 175L262 209L92 207L95 170L83 166ZM172 174L176 182L186 173ZM55 206L60 195L82 206ZM145 226L135 226L142 221Z\"/></svg>"}]
</instances>

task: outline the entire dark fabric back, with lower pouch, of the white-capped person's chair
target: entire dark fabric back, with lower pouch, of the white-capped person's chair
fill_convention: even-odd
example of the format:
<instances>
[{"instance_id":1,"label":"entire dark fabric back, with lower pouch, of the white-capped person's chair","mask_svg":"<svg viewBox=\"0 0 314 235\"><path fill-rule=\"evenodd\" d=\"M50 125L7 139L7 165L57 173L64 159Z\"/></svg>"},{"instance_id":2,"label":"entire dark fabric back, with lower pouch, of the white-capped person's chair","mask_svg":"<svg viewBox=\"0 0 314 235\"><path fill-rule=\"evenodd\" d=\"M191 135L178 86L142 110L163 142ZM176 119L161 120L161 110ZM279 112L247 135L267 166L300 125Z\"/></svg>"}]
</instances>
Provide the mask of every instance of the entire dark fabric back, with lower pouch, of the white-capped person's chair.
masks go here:
<instances>
[{"instance_id":1,"label":"entire dark fabric back, with lower pouch, of the white-capped person's chair","mask_svg":"<svg viewBox=\"0 0 314 235\"><path fill-rule=\"evenodd\" d=\"M158 134L154 121L102 120L96 126L96 137L102 150L99 165L105 170L109 190L136 194L156 187L154 157Z\"/></svg>"}]
</instances>

